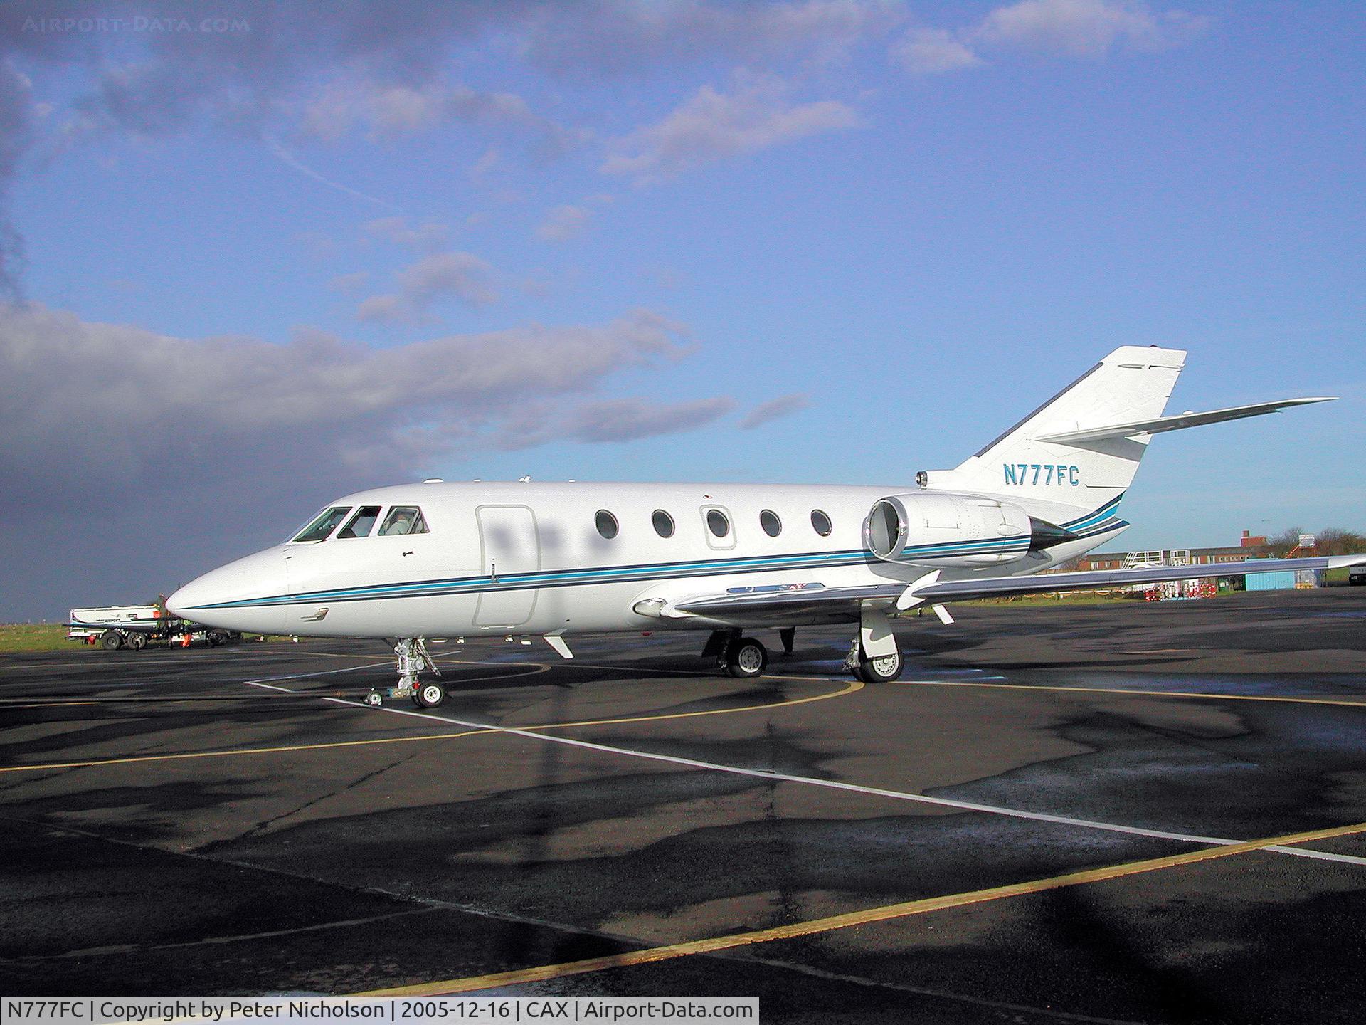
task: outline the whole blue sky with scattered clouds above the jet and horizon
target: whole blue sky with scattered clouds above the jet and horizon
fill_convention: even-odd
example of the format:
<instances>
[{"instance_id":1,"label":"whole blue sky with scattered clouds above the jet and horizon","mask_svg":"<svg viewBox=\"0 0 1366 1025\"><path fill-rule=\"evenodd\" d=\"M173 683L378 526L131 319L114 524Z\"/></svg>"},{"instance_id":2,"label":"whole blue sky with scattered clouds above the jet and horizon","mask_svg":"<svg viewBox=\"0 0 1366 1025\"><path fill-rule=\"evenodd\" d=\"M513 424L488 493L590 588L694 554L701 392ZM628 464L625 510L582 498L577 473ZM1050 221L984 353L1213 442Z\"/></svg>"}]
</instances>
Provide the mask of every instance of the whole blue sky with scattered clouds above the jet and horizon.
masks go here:
<instances>
[{"instance_id":1,"label":"whole blue sky with scattered clouds above the jet and horizon","mask_svg":"<svg viewBox=\"0 0 1366 1025\"><path fill-rule=\"evenodd\" d=\"M0 45L3 619L414 477L903 482L1119 344L1190 350L1175 410L1343 396L1158 437L1124 544L1366 526L1358 4L19 3Z\"/></svg>"}]
</instances>

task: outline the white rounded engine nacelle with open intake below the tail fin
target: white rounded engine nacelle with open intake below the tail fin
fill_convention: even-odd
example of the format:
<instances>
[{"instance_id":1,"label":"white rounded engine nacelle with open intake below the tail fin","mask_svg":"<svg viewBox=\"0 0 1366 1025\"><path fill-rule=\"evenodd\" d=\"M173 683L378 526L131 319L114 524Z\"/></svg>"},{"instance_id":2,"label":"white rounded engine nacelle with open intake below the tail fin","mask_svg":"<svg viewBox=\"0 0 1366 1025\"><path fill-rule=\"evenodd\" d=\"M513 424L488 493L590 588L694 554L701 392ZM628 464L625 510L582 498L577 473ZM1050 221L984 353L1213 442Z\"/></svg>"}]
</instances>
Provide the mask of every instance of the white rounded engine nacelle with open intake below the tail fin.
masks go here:
<instances>
[{"instance_id":1,"label":"white rounded engine nacelle with open intake below the tail fin","mask_svg":"<svg viewBox=\"0 0 1366 1025\"><path fill-rule=\"evenodd\" d=\"M885 562L994 566L1023 559L1031 548L1065 540L1037 545L1035 523L1052 528L1011 502L922 491L888 495L873 503L863 525L863 543Z\"/></svg>"}]
</instances>

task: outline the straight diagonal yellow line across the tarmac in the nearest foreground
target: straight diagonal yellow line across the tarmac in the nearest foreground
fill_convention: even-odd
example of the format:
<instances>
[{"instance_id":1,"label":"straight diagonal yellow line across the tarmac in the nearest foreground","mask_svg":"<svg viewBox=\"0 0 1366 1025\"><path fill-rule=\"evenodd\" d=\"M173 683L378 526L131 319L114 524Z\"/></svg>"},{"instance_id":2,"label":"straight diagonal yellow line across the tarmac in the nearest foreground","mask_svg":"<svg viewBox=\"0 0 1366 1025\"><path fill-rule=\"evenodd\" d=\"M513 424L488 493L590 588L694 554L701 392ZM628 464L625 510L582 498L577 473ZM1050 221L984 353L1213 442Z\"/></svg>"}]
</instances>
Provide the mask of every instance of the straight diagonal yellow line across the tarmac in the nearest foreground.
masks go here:
<instances>
[{"instance_id":1,"label":"straight diagonal yellow line across the tarmac in the nearest foreground","mask_svg":"<svg viewBox=\"0 0 1366 1025\"><path fill-rule=\"evenodd\" d=\"M469 979L448 979L438 983L419 983L417 985L400 985L389 989L370 989L366 992L351 994L352 996L432 996L437 994L462 994L471 992L475 989L493 989L496 987L504 985L522 985L526 983L544 983L550 979L563 979L566 976L587 974L591 972L605 972L613 968L630 968L632 965L653 965L660 961L671 961L673 958L691 957L694 954L716 954L723 950L735 950L738 947L747 947L755 943L772 943L773 940L798 939L802 936L813 936L822 932L832 932L835 929L847 929L852 925L870 925L873 922L891 921L893 918L906 918L912 914L926 914L929 912L940 912L948 907L963 907L974 903L986 903L989 901L1001 901L1011 897L1024 897L1029 894L1040 894L1045 890L1060 890L1063 887L1071 886L1085 886L1089 883L1102 883L1111 879L1123 879L1124 876L1137 876L1143 872L1160 872L1162 869L1177 868L1180 865L1193 865L1201 861L1213 861L1214 858L1227 858L1233 854L1246 854L1253 850L1262 850L1265 847L1285 846L1295 843L1310 843L1313 840L1332 839L1335 836L1347 836L1355 832L1366 832L1366 823L1358 823L1355 825L1339 825L1328 830L1313 830L1310 832L1296 832L1285 836L1269 836L1259 840L1247 840L1246 843L1235 843L1220 847L1205 847L1201 850L1193 850L1186 854L1172 854L1165 858L1149 858L1146 861L1130 861L1120 865L1109 865L1106 868L1093 868L1083 872L1070 872L1064 876L1052 876L1049 879L1035 879L1026 883L1011 883L1008 886L997 886L989 890L971 890L963 894L949 894L947 897L929 897L919 901L906 901L904 903L884 905L881 907L869 907L862 912L850 912L847 914L835 914L829 918L814 918L805 922L794 922L791 925L779 925L770 929L755 929L753 932L736 932L729 936L716 936L712 939L688 940L686 943L672 943L664 947L647 947L645 950L628 950L622 954L609 954L600 958L589 958L586 961L568 961L559 965L541 965L537 968L522 968L512 972L494 972L485 976L474 976Z\"/></svg>"}]
</instances>

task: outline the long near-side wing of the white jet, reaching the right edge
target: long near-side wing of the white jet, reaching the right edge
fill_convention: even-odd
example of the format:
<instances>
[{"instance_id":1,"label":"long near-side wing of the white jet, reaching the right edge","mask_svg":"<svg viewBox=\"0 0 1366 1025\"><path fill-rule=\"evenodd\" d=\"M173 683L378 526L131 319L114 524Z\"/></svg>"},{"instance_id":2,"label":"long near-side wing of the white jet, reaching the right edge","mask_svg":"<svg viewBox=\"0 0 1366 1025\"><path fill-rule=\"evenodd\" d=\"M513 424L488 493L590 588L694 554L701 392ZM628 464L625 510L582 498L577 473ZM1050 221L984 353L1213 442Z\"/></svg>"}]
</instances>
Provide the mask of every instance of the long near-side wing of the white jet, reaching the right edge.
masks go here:
<instances>
[{"instance_id":1,"label":"long near-side wing of the white jet, reaching the right edge","mask_svg":"<svg viewBox=\"0 0 1366 1025\"><path fill-rule=\"evenodd\" d=\"M1309 559L1244 559L1198 566L1153 566L1132 570L1087 570L1082 573L1041 573L1030 577L973 577L940 581L936 570L914 584L873 584L826 588L806 584L795 588L736 588L724 594L699 594L676 601L656 599L637 611L658 616L702 616L735 625L773 622L825 623L858 619L865 605L899 611L922 603L975 601L988 597L1042 594L1059 590L1123 588L1134 584L1162 584L1201 577L1240 577L1247 573L1281 570L1330 570L1366 563L1366 555L1333 555Z\"/></svg>"}]
</instances>

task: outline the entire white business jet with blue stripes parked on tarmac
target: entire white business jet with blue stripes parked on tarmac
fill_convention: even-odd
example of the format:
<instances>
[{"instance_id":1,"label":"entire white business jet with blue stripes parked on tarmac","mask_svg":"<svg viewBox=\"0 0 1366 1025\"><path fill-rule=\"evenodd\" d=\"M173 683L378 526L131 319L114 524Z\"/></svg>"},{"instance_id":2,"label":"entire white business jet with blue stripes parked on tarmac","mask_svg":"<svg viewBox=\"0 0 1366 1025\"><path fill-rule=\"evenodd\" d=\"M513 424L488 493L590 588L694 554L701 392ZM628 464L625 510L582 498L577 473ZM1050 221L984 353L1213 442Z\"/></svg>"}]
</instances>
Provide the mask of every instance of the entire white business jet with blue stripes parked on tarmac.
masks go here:
<instances>
[{"instance_id":1,"label":"entire white business jet with blue stripes parked on tarmac","mask_svg":"<svg viewBox=\"0 0 1366 1025\"><path fill-rule=\"evenodd\" d=\"M891 620L928 605L1208 577L1208 566L1050 573L1128 523L1119 506L1153 435L1325 402L1162 415L1184 364L1124 346L952 470L900 487L425 481L347 495L284 544L180 588L178 616L227 630L395 645L391 697L438 705L425 640L708 630L703 657L764 672L749 631L856 626L847 667L896 679ZM1362 556L1224 563L1220 575ZM367 701L378 704L378 692Z\"/></svg>"}]
</instances>

